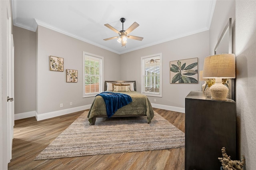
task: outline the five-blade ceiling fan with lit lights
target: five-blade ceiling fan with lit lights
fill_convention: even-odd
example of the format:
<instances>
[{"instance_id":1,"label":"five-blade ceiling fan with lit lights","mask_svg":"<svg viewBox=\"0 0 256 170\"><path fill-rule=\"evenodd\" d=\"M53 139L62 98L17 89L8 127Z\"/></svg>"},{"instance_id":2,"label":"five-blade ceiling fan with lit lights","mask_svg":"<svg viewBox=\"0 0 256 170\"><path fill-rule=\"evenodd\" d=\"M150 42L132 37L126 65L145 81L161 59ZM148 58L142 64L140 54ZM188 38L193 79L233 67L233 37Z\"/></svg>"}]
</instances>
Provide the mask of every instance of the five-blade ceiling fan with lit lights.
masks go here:
<instances>
[{"instance_id":1,"label":"five-blade ceiling fan with lit lights","mask_svg":"<svg viewBox=\"0 0 256 170\"><path fill-rule=\"evenodd\" d=\"M121 31L118 31L116 30L115 28L113 28L112 26L110 26L109 24L104 24L104 26L108 27L110 30L116 32L117 34L119 34L118 36L116 37L111 37L111 38L106 38L106 39L103 39L105 41L107 40L112 40L112 39L115 39L115 38L118 38L118 42L122 44L122 46L125 46L126 43L127 43L127 38L130 38L130 39L133 39L133 40L139 40L139 41L142 41L143 40L143 37L137 37L137 36L130 36L128 35L130 32L132 32L135 28L137 28L138 26L140 26L137 22L134 22L126 31L124 31L124 22L125 22L125 18L120 18L120 21L122 22L123 24L123 30Z\"/></svg>"}]
</instances>

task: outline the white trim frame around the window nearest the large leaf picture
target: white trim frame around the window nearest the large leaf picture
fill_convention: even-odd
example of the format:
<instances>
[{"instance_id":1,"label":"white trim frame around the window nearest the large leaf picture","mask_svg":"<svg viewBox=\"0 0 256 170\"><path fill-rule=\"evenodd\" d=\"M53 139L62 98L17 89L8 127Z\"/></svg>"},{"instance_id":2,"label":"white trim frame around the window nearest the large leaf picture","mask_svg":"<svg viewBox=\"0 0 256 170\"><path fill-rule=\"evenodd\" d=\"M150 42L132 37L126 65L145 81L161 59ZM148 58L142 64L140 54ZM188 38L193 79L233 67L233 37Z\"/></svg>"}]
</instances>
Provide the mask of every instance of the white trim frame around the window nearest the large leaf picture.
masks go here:
<instances>
[{"instance_id":1,"label":"white trim frame around the window nearest the large leaf picture","mask_svg":"<svg viewBox=\"0 0 256 170\"><path fill-rule=\"evenodd\" d=\"M160 56L160 81L159 81L159 93L160 94L152 94L152 93L143 93L143 76L144 76L144 70L143 70L143 59L146 59L146 58L152 58L152 57L155 57L155 56ZM147 55L147 56L144 56L144 57L141 57L140 58L140 66L141 66L141 73L140 73L140 80L141 80L141 87L140 87L140 91L143 95L146 95L146 96L154 96L154 97L162 97L162 53L157 53L157 54L152 54L152 55Z\"/></svg>"}]
</instances>

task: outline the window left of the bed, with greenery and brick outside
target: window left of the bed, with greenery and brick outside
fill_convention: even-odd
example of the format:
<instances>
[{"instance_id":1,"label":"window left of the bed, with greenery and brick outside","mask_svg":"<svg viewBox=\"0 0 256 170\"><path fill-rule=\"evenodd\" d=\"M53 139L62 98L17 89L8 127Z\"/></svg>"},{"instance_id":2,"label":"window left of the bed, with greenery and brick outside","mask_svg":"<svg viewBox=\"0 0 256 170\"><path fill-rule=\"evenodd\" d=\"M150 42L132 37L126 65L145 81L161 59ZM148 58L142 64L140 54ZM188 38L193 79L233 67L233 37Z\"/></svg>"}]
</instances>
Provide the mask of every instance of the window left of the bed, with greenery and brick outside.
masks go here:
<instances>
[{"instance_id":1,"label":"window left of the bed, with greenery and brick outside","mask_svg":"<svg viewBox=\"0 0 256 170\"><path fill-rule=\"evenodd\" d=\"M103 91L103 57L83 51L83 97L92 97Z\"/></svg>"}]
</instances>

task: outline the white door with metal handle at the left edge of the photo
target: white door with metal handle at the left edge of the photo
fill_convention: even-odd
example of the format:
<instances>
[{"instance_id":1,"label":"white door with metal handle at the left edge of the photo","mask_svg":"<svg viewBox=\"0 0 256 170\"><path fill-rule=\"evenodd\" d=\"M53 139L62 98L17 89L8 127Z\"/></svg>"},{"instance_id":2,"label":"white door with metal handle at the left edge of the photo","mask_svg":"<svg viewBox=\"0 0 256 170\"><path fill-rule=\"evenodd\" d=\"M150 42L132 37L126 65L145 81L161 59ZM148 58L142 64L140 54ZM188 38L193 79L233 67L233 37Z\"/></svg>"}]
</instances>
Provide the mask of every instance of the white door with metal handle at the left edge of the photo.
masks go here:
<instances>
[{"instance_id":1,"label":"white door with metal handle at the left edge of the photo","mask_svg":"<svg viewBox=\"0 0 256 170\"><path fill-rule=\"evenodd\" d=\"M0 169L12 159L14 125L13 43L10 1L0 0Z\"/></svg>"}]
</instances>

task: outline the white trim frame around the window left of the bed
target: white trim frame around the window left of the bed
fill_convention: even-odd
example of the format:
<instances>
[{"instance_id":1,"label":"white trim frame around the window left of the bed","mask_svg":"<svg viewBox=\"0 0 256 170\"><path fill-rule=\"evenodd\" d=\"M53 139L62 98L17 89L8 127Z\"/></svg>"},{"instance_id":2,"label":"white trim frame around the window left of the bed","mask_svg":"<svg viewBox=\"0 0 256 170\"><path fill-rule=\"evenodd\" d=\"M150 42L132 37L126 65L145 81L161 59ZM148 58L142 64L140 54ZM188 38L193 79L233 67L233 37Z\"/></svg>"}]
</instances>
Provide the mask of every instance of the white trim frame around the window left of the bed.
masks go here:
<instances>
[{"instance_id":1,"label":"white trim frame around the window left of the bed","mask_svg":"<svg viewBox=\"0 0 256 170\"><path fill-rule=\"evenodd\" d=\"M104 77L104 75L103 75L103 73L104 73L104 57L102 57L102 56L100 56L100 55L96 55L96 54L92 54L92 53L88 53L88 52L85 52L85 51L83 51L83 98L85 98L85 97L95 97L97 94L99 94L99 93L90 93L90 94L85 94L85 92L84 92L84 85L85 85L85 79L84 79L84 77L85 77L85 74L84 74L84 61L85 61L85 59L84 59L84 55L90 55L90 56L92 56L92 57L97 57L97 58L100 58L100 59L102 59L102 67L101 67L101 69L102 69L102 71L101 71L101 83L100 83L100 87L99 87L99 89L100 89L100 92L102 92L102 91L104 91L104 87L103 87L103 82L104 82L104 80L103 80L103 77Z\"/></svg>"}]
</instances>

